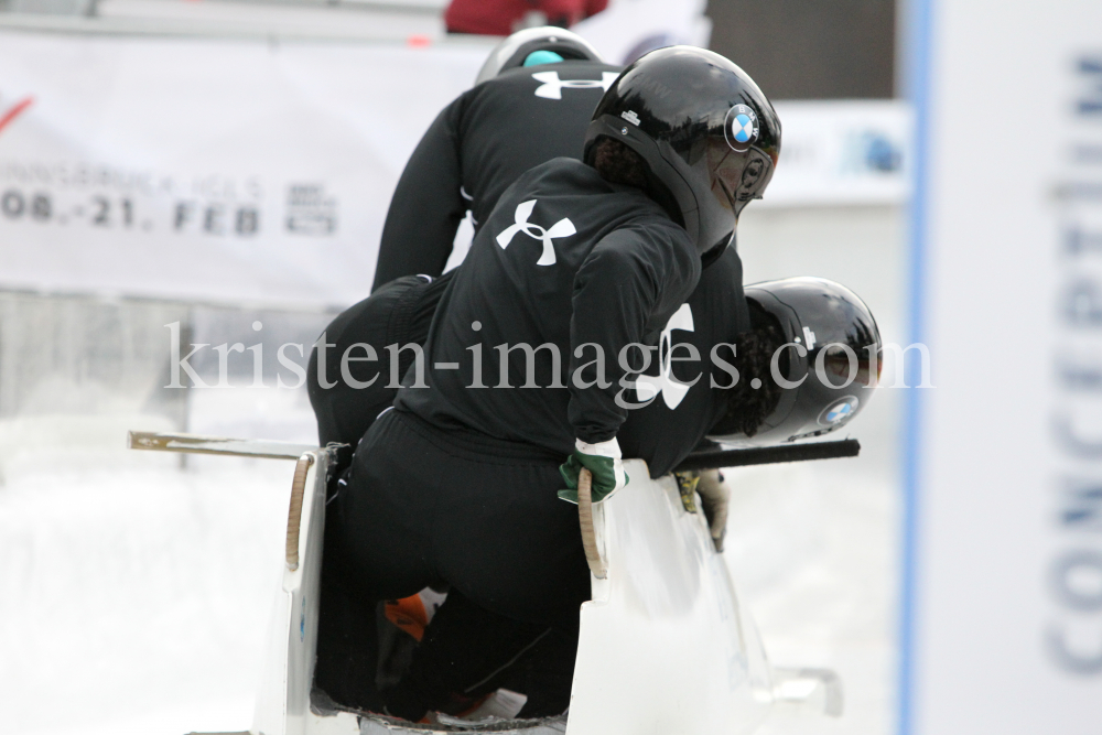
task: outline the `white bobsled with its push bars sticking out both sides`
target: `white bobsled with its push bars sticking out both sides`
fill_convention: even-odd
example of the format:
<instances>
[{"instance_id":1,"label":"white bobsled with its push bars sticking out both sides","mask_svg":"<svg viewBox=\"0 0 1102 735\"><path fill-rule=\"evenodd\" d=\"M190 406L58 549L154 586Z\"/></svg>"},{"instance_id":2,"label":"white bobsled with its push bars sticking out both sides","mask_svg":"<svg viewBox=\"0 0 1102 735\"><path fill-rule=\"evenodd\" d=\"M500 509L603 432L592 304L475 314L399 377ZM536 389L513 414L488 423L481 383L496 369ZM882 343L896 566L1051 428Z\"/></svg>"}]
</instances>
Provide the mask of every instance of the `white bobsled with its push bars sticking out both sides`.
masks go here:
<instances>
[{"instance_id":1,"label":"white bobsled with its push bars sticking out both sides","mask_svg":"<svg viewBox=\"0 0 1102 735\"><path fill-rule=\"evenodd\" d=\"M251 735L744 735L771 710L842 711L839 678L825 669L773 668L700 507L672 475L651 479L625 462L626 488L593 506L580 488L580 529L592 599L581 633L566 713L510 720L476 711L433 724L312 701L317 641L327 450L283 442L131 432L132 448L287 458L291 483L282 579L272 605ZM679 469L853 456L855 441L703 452ZM584 483L583 483L584 485ZM501 690L505 691L505 690ZM500 692L499 692L500 693ZM484 709L485 710L485 709ZM483 716L478 716L483 715ZM245 735L244 733L240 735Z\"/></svg>"}]
</instances>

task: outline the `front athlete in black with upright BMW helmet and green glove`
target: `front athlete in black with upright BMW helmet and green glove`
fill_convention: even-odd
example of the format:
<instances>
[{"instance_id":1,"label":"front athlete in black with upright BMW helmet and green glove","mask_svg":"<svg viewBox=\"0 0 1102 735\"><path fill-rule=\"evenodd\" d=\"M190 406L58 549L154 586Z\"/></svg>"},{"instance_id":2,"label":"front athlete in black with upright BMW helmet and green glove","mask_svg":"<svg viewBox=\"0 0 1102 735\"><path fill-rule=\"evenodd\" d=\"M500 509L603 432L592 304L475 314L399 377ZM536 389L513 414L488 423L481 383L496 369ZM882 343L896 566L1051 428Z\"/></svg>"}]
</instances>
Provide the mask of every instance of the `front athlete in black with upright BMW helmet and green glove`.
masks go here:
<instances>
[{"instance_id":1,"label":"front athlete in black with upright BMW helmet and green glove","mask_svg":"<svg viewBox=\"0 0 1102 735\"><path fill-rule=\"evenodd\" d=\"M555 159L500 197L432 321L426 387L414 365L329 506L326 563L339 560L365 610L451 590L409 673L381 695L365 673L357 704L418 720L549 630L576 636L588 573L560 498L582 467L597 500L625 484L624 393L666 388L640 387L623 355L682 312L778 147L742 69L666 48L602 98L585 163Z\"/></svg>"}]
</instances>

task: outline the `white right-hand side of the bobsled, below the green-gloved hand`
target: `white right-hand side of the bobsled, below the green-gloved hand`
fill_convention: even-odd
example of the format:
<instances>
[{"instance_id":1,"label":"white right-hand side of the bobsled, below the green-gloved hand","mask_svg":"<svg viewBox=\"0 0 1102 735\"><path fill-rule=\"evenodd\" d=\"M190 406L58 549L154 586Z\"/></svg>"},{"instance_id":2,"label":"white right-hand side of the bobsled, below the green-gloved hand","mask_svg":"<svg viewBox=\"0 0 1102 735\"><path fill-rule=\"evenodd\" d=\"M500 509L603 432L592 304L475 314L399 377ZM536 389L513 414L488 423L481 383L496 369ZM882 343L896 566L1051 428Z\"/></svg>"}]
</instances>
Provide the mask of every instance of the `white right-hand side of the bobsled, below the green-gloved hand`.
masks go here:
<instances>
[{"instance_id":1,"label":"white right-hand side of the bobsled, below the green-gloved hand","mask_svg":"<svg viewBox=\"0 0 1102 735\"><path fill-rule=\"evenodd\" d=\"M582 605L568 735L754 732L769 668L703 516L641 461L594 508L608 566Z\"/></svg>"}]
</instances>

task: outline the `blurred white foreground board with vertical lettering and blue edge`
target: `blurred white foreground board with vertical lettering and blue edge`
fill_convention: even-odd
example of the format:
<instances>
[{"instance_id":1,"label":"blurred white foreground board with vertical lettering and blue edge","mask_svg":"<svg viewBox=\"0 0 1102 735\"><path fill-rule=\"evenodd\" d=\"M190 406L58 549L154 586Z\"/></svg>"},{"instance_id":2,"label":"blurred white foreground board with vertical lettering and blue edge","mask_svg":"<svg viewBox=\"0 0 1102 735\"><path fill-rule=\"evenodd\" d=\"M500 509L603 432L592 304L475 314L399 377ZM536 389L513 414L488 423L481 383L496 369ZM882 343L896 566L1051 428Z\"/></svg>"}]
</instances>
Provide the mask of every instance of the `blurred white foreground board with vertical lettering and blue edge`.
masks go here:
<instances>
[{"instance_id":1,"label":"blurred white foreground board with vertical lettering and blue edge","mask_svg":"<svg viewBox=\"0 0 1102 735\"><path fill-rule=\"evenodd\" d=\"M900 732L1093 735L1102 3L914 6L915 338L937 388L911 391Z\"/></svg>"}]
</instances>

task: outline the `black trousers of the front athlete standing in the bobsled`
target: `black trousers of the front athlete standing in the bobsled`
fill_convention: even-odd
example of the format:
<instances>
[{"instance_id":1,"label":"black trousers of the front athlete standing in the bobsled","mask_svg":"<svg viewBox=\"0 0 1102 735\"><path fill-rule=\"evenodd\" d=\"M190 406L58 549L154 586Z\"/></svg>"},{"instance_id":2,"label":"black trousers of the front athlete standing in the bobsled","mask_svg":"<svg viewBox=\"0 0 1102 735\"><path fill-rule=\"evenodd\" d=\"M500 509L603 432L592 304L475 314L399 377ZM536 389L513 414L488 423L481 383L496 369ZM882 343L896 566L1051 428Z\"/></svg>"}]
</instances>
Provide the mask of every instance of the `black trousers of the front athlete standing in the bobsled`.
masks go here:
<instances>
[{"instance_id":1,"label":"black trousers of the front athlete standing in the bobsled","mask_svg":"<svg viewBox=\"0 0 1102 735\"><path fill-rule=\"evenodd\" d=\"M325 586L342 606L327 613L337 608L323 598L318 684L343 703L419 718L540 650L551 651L552 678L569 681L590 574L576 507L555 495L561 462L537 447L444 432L397 410L382 414L327 509ZM452 592L409 674L380 694L375 605L430 585ZM532 693L549 709L534 714L569 703L569 687L564 696Z\"/></svg>"}]
</instances>

